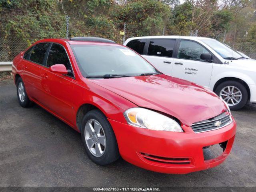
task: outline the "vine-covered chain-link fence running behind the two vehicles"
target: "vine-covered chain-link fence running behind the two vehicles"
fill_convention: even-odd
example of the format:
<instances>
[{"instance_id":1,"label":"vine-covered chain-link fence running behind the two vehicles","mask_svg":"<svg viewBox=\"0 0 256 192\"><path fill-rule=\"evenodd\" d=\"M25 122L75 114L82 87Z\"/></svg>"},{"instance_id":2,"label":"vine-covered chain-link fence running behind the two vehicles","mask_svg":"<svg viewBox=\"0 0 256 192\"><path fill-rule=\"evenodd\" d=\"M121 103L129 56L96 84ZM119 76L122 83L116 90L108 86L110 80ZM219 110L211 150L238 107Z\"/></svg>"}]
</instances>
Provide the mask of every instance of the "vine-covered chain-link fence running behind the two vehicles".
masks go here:
<instances>
[{"instance_id":1,"label":"vine-covered chain-link fence running behind the two vehicles","mask_svg":"<svg viewBox=\"0 0 256 192\"><path fill-rule=\"evenodd\" d=\"M60 16L60 14L35 14L31 12L0 8L0 61L13 58L37 40L44 38L66 38L66 36L98 36L122 44L127 38L151 35L175 35L165 27L135 26L126 23L92 25L88 20ZM205 36L204 34L197 34ZM255 37L256 35L254 35ZM216 36L208 36L216 38ZM228 32L217 38L250 58L256 59L256 41L248 32Z\"/></svg>"}]
</instances>

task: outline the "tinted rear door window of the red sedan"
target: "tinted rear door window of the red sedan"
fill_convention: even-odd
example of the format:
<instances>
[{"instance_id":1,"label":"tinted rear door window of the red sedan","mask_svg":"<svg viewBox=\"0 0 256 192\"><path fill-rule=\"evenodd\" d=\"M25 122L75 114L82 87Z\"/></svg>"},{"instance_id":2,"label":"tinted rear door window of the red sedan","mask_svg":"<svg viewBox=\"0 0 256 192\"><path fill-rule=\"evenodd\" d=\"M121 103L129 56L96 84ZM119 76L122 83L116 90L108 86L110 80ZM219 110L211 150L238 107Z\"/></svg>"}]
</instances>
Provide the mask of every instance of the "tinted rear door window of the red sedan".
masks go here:
<instances>
[{"instance_id":1,"label":"tinted rear door window of the red sedan","mask_svg":"<svg viewBox=\"0 0 256 192\"><path fill-rule=\"evenodd\" d=\"M46 55L46 51L50 43L39 43L34 46L34 49L30 55L30 61L36 62L38 64L43 64L44 56Z\"/></svg>"}]
</instances>

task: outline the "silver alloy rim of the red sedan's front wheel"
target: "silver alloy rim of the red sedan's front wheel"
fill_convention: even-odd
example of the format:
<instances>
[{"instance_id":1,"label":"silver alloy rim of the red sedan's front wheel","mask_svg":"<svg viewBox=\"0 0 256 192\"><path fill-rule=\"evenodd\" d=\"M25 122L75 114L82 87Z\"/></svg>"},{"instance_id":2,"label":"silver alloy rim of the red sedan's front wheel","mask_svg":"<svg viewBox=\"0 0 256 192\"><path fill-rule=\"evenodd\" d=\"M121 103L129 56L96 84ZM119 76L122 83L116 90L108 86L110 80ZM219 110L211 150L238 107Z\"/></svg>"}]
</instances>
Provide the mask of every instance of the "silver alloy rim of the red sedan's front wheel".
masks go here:
<instances>
[{"instance_id":1,"label":"silver alloy rim of the red sedan's front wheel","mask_svg":"<svg viewBox=\"0 0 256 192\"><path fill-rule=\"evenodd\" d=\"M85 125L84 137L90 153L96 157L101 157L106 149L106 137L101 124L90 119Z\"/></svg>"}]
</instances>

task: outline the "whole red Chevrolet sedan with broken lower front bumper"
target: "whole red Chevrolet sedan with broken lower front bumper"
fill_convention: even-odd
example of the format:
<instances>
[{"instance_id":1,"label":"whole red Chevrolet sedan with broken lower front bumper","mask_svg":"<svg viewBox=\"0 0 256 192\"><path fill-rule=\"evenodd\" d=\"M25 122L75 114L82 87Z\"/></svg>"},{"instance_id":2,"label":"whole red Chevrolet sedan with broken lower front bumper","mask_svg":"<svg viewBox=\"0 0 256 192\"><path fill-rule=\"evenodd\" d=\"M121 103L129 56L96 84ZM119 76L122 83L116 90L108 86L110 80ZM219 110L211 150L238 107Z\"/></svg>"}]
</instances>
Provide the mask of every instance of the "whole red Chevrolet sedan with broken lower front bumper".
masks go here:
<instances>
[{"instance_id":1,"label":"whole red Chevrolet sedan with broken lower front bumper","mask_svg":"<svg viewBox=\"0 0 256 192\"><path fill-rule=\"evenodd\" d=\"M222 163L234 142L236 122L216 94L111 40L40 40L14 58L12 72L20 105L34 102L80 132L96 164L122 156L184 174ZM221 152L206 157L212 145Z\"/></svg>"}]
</instances>

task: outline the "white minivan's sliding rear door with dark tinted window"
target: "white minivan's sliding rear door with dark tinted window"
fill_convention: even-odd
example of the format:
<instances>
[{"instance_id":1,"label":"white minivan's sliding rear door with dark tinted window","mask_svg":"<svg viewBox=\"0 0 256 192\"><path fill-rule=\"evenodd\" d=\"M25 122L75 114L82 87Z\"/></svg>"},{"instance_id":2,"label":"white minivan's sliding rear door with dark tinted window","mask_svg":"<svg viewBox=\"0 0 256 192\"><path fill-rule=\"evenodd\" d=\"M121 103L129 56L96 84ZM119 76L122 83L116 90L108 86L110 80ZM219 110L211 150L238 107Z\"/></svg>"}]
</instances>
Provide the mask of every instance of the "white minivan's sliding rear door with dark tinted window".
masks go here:
<instances>
[{"instance_id":1,"label":"white minivan's sliding rear door with dark tinted window","mask_svg":"<svg viewBox=\"0 0 256 192\"><path fill-rule=\"evenodd\" d=\"M147 54L142 55L160 72L172 75L173 50L176 39L150 39Z\"/></svg>"}]
</instances>

